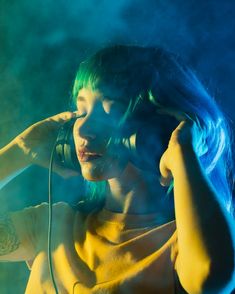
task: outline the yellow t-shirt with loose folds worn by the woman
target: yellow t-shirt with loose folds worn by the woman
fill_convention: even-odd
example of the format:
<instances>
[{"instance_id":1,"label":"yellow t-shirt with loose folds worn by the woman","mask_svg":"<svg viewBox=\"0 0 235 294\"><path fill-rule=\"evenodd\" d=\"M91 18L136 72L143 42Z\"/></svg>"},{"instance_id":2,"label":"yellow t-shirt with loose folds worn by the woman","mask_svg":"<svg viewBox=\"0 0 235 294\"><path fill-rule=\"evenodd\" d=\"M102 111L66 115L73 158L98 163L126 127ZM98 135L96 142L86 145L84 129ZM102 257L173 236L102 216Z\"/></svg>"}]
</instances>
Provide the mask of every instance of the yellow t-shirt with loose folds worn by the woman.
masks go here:
<instances>
[{"instance_id":1,"label":"yellow t-shirt with loose folds worn by the woman","mask_svg":"<svg viewBox=\"0 0 235 294\"><path fill-rule=\"evenodd\" d=\"M12 219L32 257L25 293L55 293L47 257L48 204L13 213ZM157 214L83 214L63 202L53 205L51 252L59 293L176 293L176 224L159 221Z\"/></svg>"}]
</instances>

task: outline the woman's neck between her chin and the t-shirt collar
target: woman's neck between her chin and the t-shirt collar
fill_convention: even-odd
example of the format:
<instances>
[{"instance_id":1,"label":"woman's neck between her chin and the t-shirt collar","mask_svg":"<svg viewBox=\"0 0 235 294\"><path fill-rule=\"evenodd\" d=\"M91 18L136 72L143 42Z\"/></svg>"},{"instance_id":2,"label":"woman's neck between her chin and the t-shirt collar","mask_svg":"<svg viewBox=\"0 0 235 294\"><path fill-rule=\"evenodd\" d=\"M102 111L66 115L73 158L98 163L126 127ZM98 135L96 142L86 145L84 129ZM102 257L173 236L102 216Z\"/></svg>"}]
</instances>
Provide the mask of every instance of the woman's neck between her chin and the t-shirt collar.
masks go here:
<instances>
[{"instance_id":1,"label":"woman's neck between her chin and the t-shirt collar","mask_svg":"<svg viewBox=\"0 0 235 294\"><path fill-rule=\"evenodd\" d=\"M130 214L164 213L165 191L157 174L127 165L123 173L108 180L105 208Z\"/></svg>"}]
</instances>

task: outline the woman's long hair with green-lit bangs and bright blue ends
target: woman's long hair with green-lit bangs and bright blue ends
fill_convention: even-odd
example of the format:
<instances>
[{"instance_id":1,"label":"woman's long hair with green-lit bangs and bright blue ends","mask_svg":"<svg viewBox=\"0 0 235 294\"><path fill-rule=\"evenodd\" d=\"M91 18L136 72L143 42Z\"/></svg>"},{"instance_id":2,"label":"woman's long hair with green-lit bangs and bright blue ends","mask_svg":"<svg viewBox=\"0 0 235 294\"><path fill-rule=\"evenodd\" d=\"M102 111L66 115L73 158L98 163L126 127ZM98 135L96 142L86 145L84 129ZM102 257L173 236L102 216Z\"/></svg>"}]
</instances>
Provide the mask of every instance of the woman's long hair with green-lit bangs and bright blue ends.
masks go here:
<instances>
[{"instance_id":1,"label":"woman's long hair with green-lit bangs and bright blue ends","mask_svg":"<svg viewBox=\"0 0 235 294\"><path fill-rule=\"evenodd\" d=\"M100 89L105 85L122 89L135 105L128 114L137 119L157 118L156 110L160 109L166 114L169 110L184 113L195 121L201 131L196 150L200 163L221 201L233 213L233 137L229 120L193 70L162 48L116 45L98 51L81 63L73 98L76 99L83 87ZM161 137L165 149L174 125L169 123L166 136ZM105 182L89 182L88 186L86 199L90 199L90 207L102 206ZM172 181L168 194L173 186Z\"/></svg>"}]
</instances>

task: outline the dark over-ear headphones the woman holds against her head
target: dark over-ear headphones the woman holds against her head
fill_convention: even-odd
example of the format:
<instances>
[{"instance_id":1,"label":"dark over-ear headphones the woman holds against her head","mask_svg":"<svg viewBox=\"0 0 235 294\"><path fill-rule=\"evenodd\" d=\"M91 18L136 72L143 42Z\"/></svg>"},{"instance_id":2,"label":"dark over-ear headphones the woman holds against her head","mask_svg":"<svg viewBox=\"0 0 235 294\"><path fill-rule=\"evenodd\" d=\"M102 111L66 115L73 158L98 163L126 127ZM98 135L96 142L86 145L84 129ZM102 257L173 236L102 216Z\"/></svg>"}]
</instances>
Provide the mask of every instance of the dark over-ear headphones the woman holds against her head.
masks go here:
<instances>
[{"instance_id":1,"label":"dark over-ear headphones the woman holds against her head","mask_svg":"<svg viewBox=\"0 0 235 294\"><path fill-rule=\"evenodd\" d=\"M81 173L73 138L73 126L78 118L72 118L62 125L58 132L55 152L62 166ZM123 132L124 135L115 138L113 142L121 144L122 148L125 147L132 164L142 170L157 172L157 164L167 149L171 133L178 123L165 115L159 115L152 120L142 119L142 123Z\"/></svg>"}]
</instances>

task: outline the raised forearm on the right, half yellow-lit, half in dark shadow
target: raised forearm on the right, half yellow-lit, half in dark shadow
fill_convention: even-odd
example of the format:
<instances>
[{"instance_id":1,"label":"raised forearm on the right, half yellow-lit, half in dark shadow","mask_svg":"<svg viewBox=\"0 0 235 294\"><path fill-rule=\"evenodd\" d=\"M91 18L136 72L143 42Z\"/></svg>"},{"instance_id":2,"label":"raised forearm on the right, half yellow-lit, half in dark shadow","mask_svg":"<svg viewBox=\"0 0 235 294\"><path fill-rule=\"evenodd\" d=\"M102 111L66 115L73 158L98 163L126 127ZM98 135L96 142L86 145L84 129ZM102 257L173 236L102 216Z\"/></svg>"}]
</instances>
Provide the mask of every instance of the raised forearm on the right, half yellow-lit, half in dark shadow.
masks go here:
<instances>
[{"instance_id":1,"label":"raised forearm on the right, half yellow-lit, half in dark shadow","mask_svg":"<svg viewBox=\"0 0 235 294\"><path fill-rule=\"evenodd\" d=\"M174 154L175 214L179 267L188 276L203 279L218 270L226 276L234 266L229 216L204 173L193 149ZM227 271L227 272L226 272ZM191 274L190 274L191 272ZM220 276L214 275L217 280ZM195 280L197 280L195 278ZM219 282L219 281L216 281Z\"/></svg>"}]
</instances>

